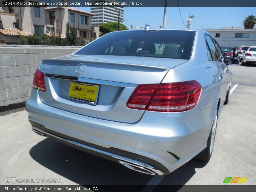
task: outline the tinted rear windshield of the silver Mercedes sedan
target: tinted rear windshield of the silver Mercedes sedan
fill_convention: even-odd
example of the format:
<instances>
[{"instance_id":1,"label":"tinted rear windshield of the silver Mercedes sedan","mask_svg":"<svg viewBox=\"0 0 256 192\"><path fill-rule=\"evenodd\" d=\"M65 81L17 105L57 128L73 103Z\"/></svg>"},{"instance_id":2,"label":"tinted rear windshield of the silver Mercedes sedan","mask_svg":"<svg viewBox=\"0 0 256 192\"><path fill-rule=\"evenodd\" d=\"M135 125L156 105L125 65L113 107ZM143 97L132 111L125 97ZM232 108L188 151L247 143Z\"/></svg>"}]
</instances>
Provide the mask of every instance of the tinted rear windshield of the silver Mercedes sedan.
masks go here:
<instances>
[{"instance_id":1,"label":"tinted rear windshield of the silver Mercedes sedan","mask_svg":"<svg viewBox=\"0 0 256 192\"><path fill-rule=\"evenodd\" d=\"M188 60L195 31L127 30L109 33L76 52L85 55L121 55Z\"/></svg>"}]
</instances>

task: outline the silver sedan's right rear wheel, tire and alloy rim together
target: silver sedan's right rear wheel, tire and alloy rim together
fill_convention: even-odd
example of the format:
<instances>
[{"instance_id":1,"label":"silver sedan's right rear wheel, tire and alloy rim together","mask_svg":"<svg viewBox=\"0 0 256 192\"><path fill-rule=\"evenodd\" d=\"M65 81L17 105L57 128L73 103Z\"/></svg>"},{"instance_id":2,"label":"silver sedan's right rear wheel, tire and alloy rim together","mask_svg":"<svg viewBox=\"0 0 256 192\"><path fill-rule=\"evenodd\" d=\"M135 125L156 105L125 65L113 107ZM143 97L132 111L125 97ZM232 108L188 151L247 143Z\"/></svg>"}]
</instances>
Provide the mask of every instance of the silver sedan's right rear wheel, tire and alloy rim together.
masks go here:
<instances>
[{"instance_id":1,"label":"silver sedan's right rear wheel, tire and alloy rim together","mask_svg":"<svg viewBox=\"0 0 256 192\"><path fill-rule=\"evenodd\" d=\"M196 158L202 161L209 161L212 156L213 146L215 142L215 136L216 136L216 129L217 129L217 122L218 122L218 108L215 111L214 119L212 123L212 129L209 134L209 137L207 139L207 146L206 148L201 151Z\"/></svg>"}]
</instances>

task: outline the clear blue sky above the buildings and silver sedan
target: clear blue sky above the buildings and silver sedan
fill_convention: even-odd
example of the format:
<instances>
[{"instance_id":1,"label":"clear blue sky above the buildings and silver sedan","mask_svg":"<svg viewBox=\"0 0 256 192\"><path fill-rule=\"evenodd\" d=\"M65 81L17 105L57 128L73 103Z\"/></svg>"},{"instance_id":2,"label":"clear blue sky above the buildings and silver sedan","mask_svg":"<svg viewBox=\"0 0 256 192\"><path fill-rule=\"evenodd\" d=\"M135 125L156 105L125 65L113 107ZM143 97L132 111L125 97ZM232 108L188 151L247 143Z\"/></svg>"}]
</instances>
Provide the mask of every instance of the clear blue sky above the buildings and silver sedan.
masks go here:
<instances>
[{"instance_id":1,"label":"clear blue sky above the buildings and silver sedan","mask_svg":"<svg viewBox=\"0 0 256 192\"><path fill-rule=\"evenodd\" d=\"M230 1L232 4L232 1ZM78 7L77 7L78 8ZM79 9L89 11L90 7L80 7ZM227 26L241 26L241 22L253 14L256 16L255 7L180 7L180 12L184 24L188 13L195 15L190 27L197 28L220 28ZM178 7L167 7L166 28L185 28ZM158 28L163 25L164 7L125 7L124 24L127 27L141 26L145 23L150 24L152 28Z\"/></svg>"}]
</instances>

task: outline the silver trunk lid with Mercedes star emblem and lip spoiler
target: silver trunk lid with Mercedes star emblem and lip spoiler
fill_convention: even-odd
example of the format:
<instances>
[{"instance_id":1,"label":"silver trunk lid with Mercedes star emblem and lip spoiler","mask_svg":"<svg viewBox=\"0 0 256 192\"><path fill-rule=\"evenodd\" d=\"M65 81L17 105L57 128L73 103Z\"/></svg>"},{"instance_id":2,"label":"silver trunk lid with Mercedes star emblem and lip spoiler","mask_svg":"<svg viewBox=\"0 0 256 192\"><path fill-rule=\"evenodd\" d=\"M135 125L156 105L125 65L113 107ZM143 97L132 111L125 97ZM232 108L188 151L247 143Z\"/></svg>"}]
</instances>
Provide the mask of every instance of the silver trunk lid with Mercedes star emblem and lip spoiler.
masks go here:
<instances>
[{"instance_id":1,"label":"silver trunk lid with Mercedes star emblem and lip spoiler","mask_svg":"<svg viewBox=\"0 0 256 192\"><path fill-rule=\"evenodd\" d=\"M144 110L126 107L126 102L136 86L159 84L170 68L186 61L109 55L68 55L43 60L39 70L45 74L46 92L39 92L39 97L45 104L67 112L110 121L136 123ZM81 66L83 72L79 70L77 73ZM94 105L81 100L70 100L71 82L99 86L97 103Z\"/></svg>"}]
</instances>

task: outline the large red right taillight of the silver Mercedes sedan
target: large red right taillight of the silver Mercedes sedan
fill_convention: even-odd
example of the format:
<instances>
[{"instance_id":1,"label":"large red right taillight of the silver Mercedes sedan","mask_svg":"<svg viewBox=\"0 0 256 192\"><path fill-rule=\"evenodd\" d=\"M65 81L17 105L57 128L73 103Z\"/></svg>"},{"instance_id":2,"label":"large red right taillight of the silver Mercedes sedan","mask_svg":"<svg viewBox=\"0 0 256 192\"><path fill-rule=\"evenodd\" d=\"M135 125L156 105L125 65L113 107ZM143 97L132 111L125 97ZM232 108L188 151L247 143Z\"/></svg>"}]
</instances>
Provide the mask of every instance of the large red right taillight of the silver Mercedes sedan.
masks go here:
<instances>
[{"instance_id":1,"label":"large red right taillight of the silver Mercedes sedan","mask_svg":"<svg viewBox=\"0 0 256 192\"><path fill-rule=\"evenodd\" d=\"M196 81L138 85L126 106L148 111L187 111L196 106L201 90L201 85Z\"/></svg>"}]
</instances>

